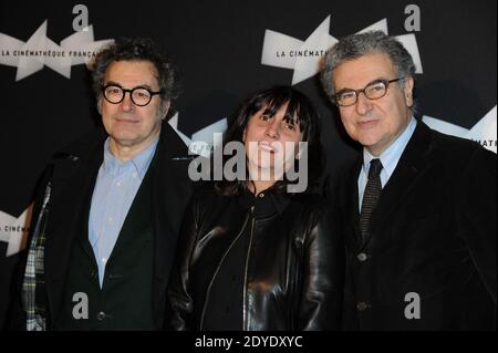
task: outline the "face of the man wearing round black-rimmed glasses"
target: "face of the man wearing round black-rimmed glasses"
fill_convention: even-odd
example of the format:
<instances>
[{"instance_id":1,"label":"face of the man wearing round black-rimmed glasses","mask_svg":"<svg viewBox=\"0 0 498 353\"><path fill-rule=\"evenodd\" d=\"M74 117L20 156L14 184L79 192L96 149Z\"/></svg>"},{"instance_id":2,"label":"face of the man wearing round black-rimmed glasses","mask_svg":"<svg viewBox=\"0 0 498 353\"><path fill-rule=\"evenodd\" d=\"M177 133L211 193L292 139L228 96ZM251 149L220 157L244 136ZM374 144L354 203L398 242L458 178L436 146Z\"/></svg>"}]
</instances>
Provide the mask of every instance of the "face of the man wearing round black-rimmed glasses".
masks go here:
<instances>
[{"instance_id":1,"label":"face of the man wearing round black-rimmed glasses","mask_svg":"<svg viewBox=\"0 0 498 353\"><path fill-rule=\"evenodd\" d=\"M115 61L107 68L104 85L114 84L125 90L146 87L157 92L157 70L148 61ZM129 93L125 93L121 103L112 104L102 97L101 104L104 127L112 142L122 147L145 148L160 132L159 95L154 95L145 106L133 104ZM164 114L167 107L164 107Z\"/></svg>"}]
</instances>

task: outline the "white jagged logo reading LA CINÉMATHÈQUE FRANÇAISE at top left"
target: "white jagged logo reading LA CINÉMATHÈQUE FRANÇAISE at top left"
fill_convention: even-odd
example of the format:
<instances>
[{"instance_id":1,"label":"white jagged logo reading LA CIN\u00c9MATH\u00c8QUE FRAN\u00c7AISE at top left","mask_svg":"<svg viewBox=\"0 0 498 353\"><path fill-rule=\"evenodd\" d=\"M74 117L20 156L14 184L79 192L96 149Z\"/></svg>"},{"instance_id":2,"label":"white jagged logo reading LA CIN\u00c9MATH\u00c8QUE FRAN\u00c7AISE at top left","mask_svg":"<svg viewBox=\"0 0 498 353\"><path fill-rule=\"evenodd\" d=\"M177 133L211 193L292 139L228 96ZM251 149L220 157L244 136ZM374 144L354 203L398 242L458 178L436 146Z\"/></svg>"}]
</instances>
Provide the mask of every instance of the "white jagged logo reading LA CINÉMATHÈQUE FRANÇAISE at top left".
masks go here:
<instances>
[{"instance_id":1,"label":"white jagged logo reading LA CIN\u00c9MATH\u00c8QUE FRAN\u00c7AISE at top left","mask_svg":"<svg viewBox=\"0 0 498 353\"><path fill-rule=\"evenodd\" d=\"M75 32L58 45L46 38L45 20L28 42L0 33L0 64L18 68L15 81L32 75L44 66L71 79L71 68L87 64L95 53L114 40L94 41L93 25Z\"/></svg>"}]
</instances>

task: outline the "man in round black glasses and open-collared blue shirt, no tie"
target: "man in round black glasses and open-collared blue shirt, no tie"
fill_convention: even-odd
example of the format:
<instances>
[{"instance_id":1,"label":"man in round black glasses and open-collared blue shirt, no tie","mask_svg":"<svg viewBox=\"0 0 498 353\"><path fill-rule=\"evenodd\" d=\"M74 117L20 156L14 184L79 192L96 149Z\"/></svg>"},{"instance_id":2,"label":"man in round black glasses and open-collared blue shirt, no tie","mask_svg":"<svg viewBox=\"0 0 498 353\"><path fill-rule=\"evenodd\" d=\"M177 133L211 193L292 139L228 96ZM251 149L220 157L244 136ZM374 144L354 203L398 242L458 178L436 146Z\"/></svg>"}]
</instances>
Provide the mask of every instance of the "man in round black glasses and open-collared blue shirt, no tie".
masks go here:
<instances>
[{"instance_id":1,"label":"man in round black glasses and open-collared blue shirt, no tie","mask_svg":"<svg viewBox=\"0 0 498 353\"><path fill-rule=\"evenodd\" d=\"M35 199L18 325L159 330L187 148L165 122L176 66L147 39L103 49L92 70L103 127L54 155Z\"/></svg>"}]
</instances>

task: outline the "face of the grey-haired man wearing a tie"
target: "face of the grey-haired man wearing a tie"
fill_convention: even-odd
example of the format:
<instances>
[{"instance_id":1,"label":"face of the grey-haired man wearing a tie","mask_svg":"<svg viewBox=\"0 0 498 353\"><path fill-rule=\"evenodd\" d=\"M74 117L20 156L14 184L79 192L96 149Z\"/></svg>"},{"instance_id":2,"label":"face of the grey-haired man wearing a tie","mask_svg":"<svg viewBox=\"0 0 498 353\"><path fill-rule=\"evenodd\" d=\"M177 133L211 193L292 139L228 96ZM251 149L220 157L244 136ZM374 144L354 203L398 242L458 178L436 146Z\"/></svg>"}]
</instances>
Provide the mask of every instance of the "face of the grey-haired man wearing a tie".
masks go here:
<instances>
[{"instance_id":1,"label":"face of the grey-haired man wearing a tie","mask_svg":"<svg viewBox=\"0 0 498 353\"><path fill-rule=\"evenodd\" d=\"M332 73L335 92L344 89L363 90L375 80L393 80L396 71L386 54L366 54L340 64ZM372 155L384 152L409 122L412 113L413 79L405 79L404 87L398 82L387 86L386 94L378 100L369 100L360 93L351 106L339 106L342 123L347 134L362 144Z\"/></svg>"}]
</instances>

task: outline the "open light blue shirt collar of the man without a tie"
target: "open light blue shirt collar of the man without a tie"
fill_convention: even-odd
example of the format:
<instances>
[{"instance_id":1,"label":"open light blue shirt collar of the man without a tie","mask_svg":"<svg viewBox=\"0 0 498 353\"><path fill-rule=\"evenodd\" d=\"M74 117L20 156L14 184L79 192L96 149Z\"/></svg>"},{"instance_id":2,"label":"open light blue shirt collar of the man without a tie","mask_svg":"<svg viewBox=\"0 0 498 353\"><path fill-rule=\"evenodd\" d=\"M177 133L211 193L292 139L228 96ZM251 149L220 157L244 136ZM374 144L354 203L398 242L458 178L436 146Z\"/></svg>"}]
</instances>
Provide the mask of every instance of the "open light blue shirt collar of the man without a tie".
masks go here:
<instances>
[{"instance_id":1,"label":"open light blue shirt collar of the man without a tie","mask_svg":"<svg viewBox=\"0 0 498 353\"><path fill-rule=\"evenodd\" d=\"M116 175L121 170L125 168L132 168L141 179L145 177L145 174L147 173L148 166L151 164L151 160L154 156L154 153L157 147L157 143L159 138L157 137L154 139L154 142L148 145L144 150L142 150L139 154L137 154L135 157L133 157L129 160L121 160L120 158L116 158L108 146L111 141L111 137L107 137L107 139L104 143L104 172Z\"/></svg>"}]
</instances>

